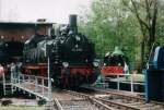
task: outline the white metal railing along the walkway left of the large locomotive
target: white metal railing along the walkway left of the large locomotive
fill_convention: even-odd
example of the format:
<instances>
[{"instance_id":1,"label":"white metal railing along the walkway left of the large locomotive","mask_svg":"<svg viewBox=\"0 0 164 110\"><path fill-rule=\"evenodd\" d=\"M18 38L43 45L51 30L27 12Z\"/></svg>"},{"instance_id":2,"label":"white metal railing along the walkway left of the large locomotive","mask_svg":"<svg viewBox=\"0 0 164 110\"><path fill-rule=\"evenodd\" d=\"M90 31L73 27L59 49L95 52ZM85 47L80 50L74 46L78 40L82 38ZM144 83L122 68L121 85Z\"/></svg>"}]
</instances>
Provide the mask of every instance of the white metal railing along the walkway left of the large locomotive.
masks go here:
<instances>
[{"instance_id":1,"label":"white metal railing along the walkway left of the large locomotive","mask_svg":"<svg viewBox=\"0 0 164 110\"><path fill-rule=\"evenodd\" d=\"M26 74L14 75L14 73L12 73L11 85L12 91L14 87L17 87L19 89L21 88L30 94L45 98L48 101L51 100L51 98L49 98L49 94L51 94L49 89L51 88L48 87L48 77Z\"/></svg>"}]
</instances>

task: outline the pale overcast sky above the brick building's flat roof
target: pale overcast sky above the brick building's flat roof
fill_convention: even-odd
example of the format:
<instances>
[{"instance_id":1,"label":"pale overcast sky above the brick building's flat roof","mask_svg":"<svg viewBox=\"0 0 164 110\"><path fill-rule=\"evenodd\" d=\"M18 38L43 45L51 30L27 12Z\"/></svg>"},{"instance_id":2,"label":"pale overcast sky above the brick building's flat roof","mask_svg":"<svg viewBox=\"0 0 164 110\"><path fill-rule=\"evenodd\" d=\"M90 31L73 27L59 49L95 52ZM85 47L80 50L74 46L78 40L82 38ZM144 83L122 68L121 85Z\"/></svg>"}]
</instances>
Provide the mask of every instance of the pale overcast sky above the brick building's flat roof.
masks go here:
<instances>
[{"instance_id":1,"label":"pale overcast sky above the brick building's flat roof","mask_svg":"<svg viewBox=\"0 0 164 110\"><path fill-rule=\"evenodd\" d=\"M35 22L47 19L67 23L68 15L90 8L92 0L0 0L1 21Z\"/></svg>"}]
</instances>

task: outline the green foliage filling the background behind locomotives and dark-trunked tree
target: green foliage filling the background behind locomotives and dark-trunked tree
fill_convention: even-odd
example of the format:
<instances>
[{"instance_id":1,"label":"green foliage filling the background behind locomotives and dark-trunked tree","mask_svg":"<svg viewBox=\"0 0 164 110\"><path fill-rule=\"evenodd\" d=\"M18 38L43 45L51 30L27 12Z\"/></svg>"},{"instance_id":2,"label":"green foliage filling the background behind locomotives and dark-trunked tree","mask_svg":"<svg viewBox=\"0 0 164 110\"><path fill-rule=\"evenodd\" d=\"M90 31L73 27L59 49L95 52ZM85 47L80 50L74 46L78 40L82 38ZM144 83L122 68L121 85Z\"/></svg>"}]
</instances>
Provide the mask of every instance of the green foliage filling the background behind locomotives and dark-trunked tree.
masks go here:
<instances>
[{"instance_id":1,"label":"green foliage filling the background behind locomotives and dark-trunked tree","mask_svg":"<svg viewBox=\"0 0 164 110\"><path fill-rule=\"evenodd\" d=\"M134 14L127 5L130 0L93 0L91 12L84 11L80 15L79 27L95 42L98 58L114 50L115 46L122 48L131 62L140 60L142 33ZM159 0L159 13L163 13L164 1ZM162 3L163 2L163 3ZM141 4L138 3L137 8ZM145 16L143 8L139 10L140 16ZM156 25L156 40L164 42L164 16L159 14Z\"/></svg>"}]
</instances>

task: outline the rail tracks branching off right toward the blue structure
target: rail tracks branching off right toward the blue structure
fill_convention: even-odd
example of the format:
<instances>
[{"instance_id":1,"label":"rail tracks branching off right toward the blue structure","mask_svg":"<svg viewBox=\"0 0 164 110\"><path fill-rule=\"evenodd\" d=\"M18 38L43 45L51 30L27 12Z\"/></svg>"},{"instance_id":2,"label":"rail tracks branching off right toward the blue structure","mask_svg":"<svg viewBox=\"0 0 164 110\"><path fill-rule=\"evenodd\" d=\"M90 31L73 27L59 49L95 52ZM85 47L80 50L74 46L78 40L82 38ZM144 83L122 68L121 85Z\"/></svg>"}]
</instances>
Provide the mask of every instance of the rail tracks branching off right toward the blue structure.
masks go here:
<instances>
[{"instance_id":1,"label":"rail tracks branching off right toward the blue structure","mask_svg":"<svg viewBox=\"0 0 164 110\"><path fill-rule=\"evenodd\" d=\"M96 100L116 110L164 110L162 102L150 101L147 103L144 98L128 93L92 89L95 90L93 97Z\"/></svg>"}]
</instances>

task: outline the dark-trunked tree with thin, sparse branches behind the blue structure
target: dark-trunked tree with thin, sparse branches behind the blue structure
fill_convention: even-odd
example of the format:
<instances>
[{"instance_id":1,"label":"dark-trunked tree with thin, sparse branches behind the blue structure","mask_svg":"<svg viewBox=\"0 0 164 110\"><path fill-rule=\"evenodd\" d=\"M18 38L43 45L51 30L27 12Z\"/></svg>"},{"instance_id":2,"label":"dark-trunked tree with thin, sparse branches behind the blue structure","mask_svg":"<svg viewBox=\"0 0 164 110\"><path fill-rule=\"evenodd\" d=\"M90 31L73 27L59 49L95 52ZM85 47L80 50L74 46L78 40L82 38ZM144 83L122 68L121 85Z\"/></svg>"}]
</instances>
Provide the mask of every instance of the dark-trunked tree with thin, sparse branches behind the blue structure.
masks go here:
<instances>
[{"instance_id":1,"label":"dark-trunked tree with thin, sparse branches behind the blue structure","mask_svg":"<svg viewBox=\"0 0 164 110\"><path fill-rule=\"evenodd\" d=\"M122 0L122 3L134 14L139 22L142 34L141 39L141 65L144 58L149 56L152 45L155 41L157 0Z\"/></svg>"}]
</instances>

